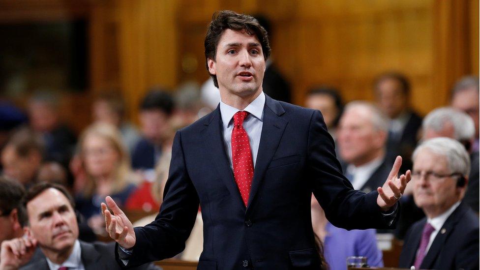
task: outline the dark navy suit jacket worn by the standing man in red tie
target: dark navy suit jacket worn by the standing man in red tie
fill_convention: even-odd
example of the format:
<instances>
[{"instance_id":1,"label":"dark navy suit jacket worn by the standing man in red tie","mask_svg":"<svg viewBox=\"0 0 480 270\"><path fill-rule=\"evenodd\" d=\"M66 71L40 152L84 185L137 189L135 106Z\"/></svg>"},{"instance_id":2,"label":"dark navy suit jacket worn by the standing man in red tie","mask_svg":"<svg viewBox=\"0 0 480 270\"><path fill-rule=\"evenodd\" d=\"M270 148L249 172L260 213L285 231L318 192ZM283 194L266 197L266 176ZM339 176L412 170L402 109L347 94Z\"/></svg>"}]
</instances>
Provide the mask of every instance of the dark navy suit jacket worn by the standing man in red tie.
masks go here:
<instances>
[{"instance_id":1,"label":"dark navy suit jacket worn by the standing man in red tie","mask_svg":"<svg viewBox=\"0 0 480 270\"><path fill-rule=\"evenodd\" d=\"M266 97L252 188L245 208L222 136L220 110L177 132L164 201L155 221L135 228L129 266L184 248L200 207L204 246L198 269L318 269L311 193L330 222L388 228L376 191L354 190L342 175L319 111ZM118 257L118 256L117 256Z\"/></svg>"}]
</instances>

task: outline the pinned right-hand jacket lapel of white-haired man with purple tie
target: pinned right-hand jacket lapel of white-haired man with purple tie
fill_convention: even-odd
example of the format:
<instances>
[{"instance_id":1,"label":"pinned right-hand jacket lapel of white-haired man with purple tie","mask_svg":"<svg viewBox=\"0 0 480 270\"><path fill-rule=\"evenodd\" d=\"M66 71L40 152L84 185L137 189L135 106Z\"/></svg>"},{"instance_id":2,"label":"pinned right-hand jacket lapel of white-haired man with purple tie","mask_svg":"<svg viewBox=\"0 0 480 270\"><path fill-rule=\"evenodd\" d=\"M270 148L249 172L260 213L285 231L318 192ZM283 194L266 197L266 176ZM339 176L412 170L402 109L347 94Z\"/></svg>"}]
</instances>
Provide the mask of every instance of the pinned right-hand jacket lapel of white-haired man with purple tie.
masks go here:
<instances>
[{"instance_id":1,"label":"pinned right-hand jacket lapel of white-haired man with purple tie","mask_svg":"<svg viewBox=\"0 0 480 270\"><path fill-rule=\"evenodd\" d=\"M425 258L423 258L423 261L420 265L421 269L430 269L433 267L433 264L438 259L438 253L444 247L445 240L447 240L448 236L455 228L455 225L458 223L464 213L465 209L463 208L463 205L460 204L457 209L455 209L450 214L450 216L445 221L445 224L443 224L442 228L435 237L435 240L433 240L432 245L430 246L427 254L425 255Z\"/></svg>"}]
</instances>

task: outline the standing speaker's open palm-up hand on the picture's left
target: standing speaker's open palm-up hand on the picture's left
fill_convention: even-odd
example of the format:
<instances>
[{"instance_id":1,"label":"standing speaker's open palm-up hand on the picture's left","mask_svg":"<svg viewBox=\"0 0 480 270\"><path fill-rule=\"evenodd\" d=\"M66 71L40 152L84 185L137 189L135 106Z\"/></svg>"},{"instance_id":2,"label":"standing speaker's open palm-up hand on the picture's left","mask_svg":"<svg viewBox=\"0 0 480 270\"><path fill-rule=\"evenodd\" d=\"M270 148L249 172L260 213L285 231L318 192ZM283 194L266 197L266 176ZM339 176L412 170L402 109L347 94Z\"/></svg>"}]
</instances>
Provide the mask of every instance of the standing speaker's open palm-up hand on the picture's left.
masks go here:
<instances>
[{"instance_id":1,"label":"standing speaker's open palm-up hand on the picture's left","mask_svg":"<svg viewBox=\"0 0 480 270\"><path fill-rule=\"evenodd\" d=\"M107 206L102 203L102 214L105 217L105 229L108 235L115 240L123 248L129 249L135 245L135 231L130 220L125 213L117 206L115 201L107 196L105 198L108 207L113 211L113 214L107 209Z\"/></svg>"}]
</instances>

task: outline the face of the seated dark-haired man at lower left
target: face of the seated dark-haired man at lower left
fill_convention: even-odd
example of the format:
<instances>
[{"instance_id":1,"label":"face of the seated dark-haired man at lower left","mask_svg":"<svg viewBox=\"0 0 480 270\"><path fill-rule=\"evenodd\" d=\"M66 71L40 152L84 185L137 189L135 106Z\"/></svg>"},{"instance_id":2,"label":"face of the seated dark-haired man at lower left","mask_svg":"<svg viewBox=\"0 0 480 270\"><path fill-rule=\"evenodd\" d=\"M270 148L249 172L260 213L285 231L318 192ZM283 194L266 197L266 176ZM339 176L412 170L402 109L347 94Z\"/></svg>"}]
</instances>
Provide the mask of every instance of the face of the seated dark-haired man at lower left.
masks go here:
<instances>
[{"instance_id":1,"label":"face of the seated dark-haired man at lower left","mask_svg":"<svg viewBox=\"0 0 480 270\"><path fill-rule=\"evenodd\" d=\"M27 204L30 233L40 247L64 252L78 238L75 212L68 199L55 188L48 188Z\"/></svg>"}]
</instances>

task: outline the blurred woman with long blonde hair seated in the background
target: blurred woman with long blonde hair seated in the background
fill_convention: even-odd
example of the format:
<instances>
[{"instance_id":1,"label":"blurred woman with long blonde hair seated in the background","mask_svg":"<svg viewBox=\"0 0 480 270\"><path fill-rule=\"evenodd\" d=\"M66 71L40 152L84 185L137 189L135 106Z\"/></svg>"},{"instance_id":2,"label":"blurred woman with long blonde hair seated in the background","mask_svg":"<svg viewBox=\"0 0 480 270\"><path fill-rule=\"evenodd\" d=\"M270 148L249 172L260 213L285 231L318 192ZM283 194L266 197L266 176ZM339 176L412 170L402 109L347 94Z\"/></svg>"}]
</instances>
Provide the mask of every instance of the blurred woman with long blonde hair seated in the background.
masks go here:
<instances>
[{"instance_id":1,"label":"blurred woman with long blonde hair seated in the background","mask_svg":"<svg viewBox=\"0 0 480 270\"><path fill-rule=\"evenodd\" d=\"M135 190L130 158L113 125L94 124L80 137L80 158L87 173L85 189L77 195L77 209L95 232L104 231L100 203L107 195L123 206ZM97 231L98 230L98 231Z\"/></svg>"}]
</instances>

